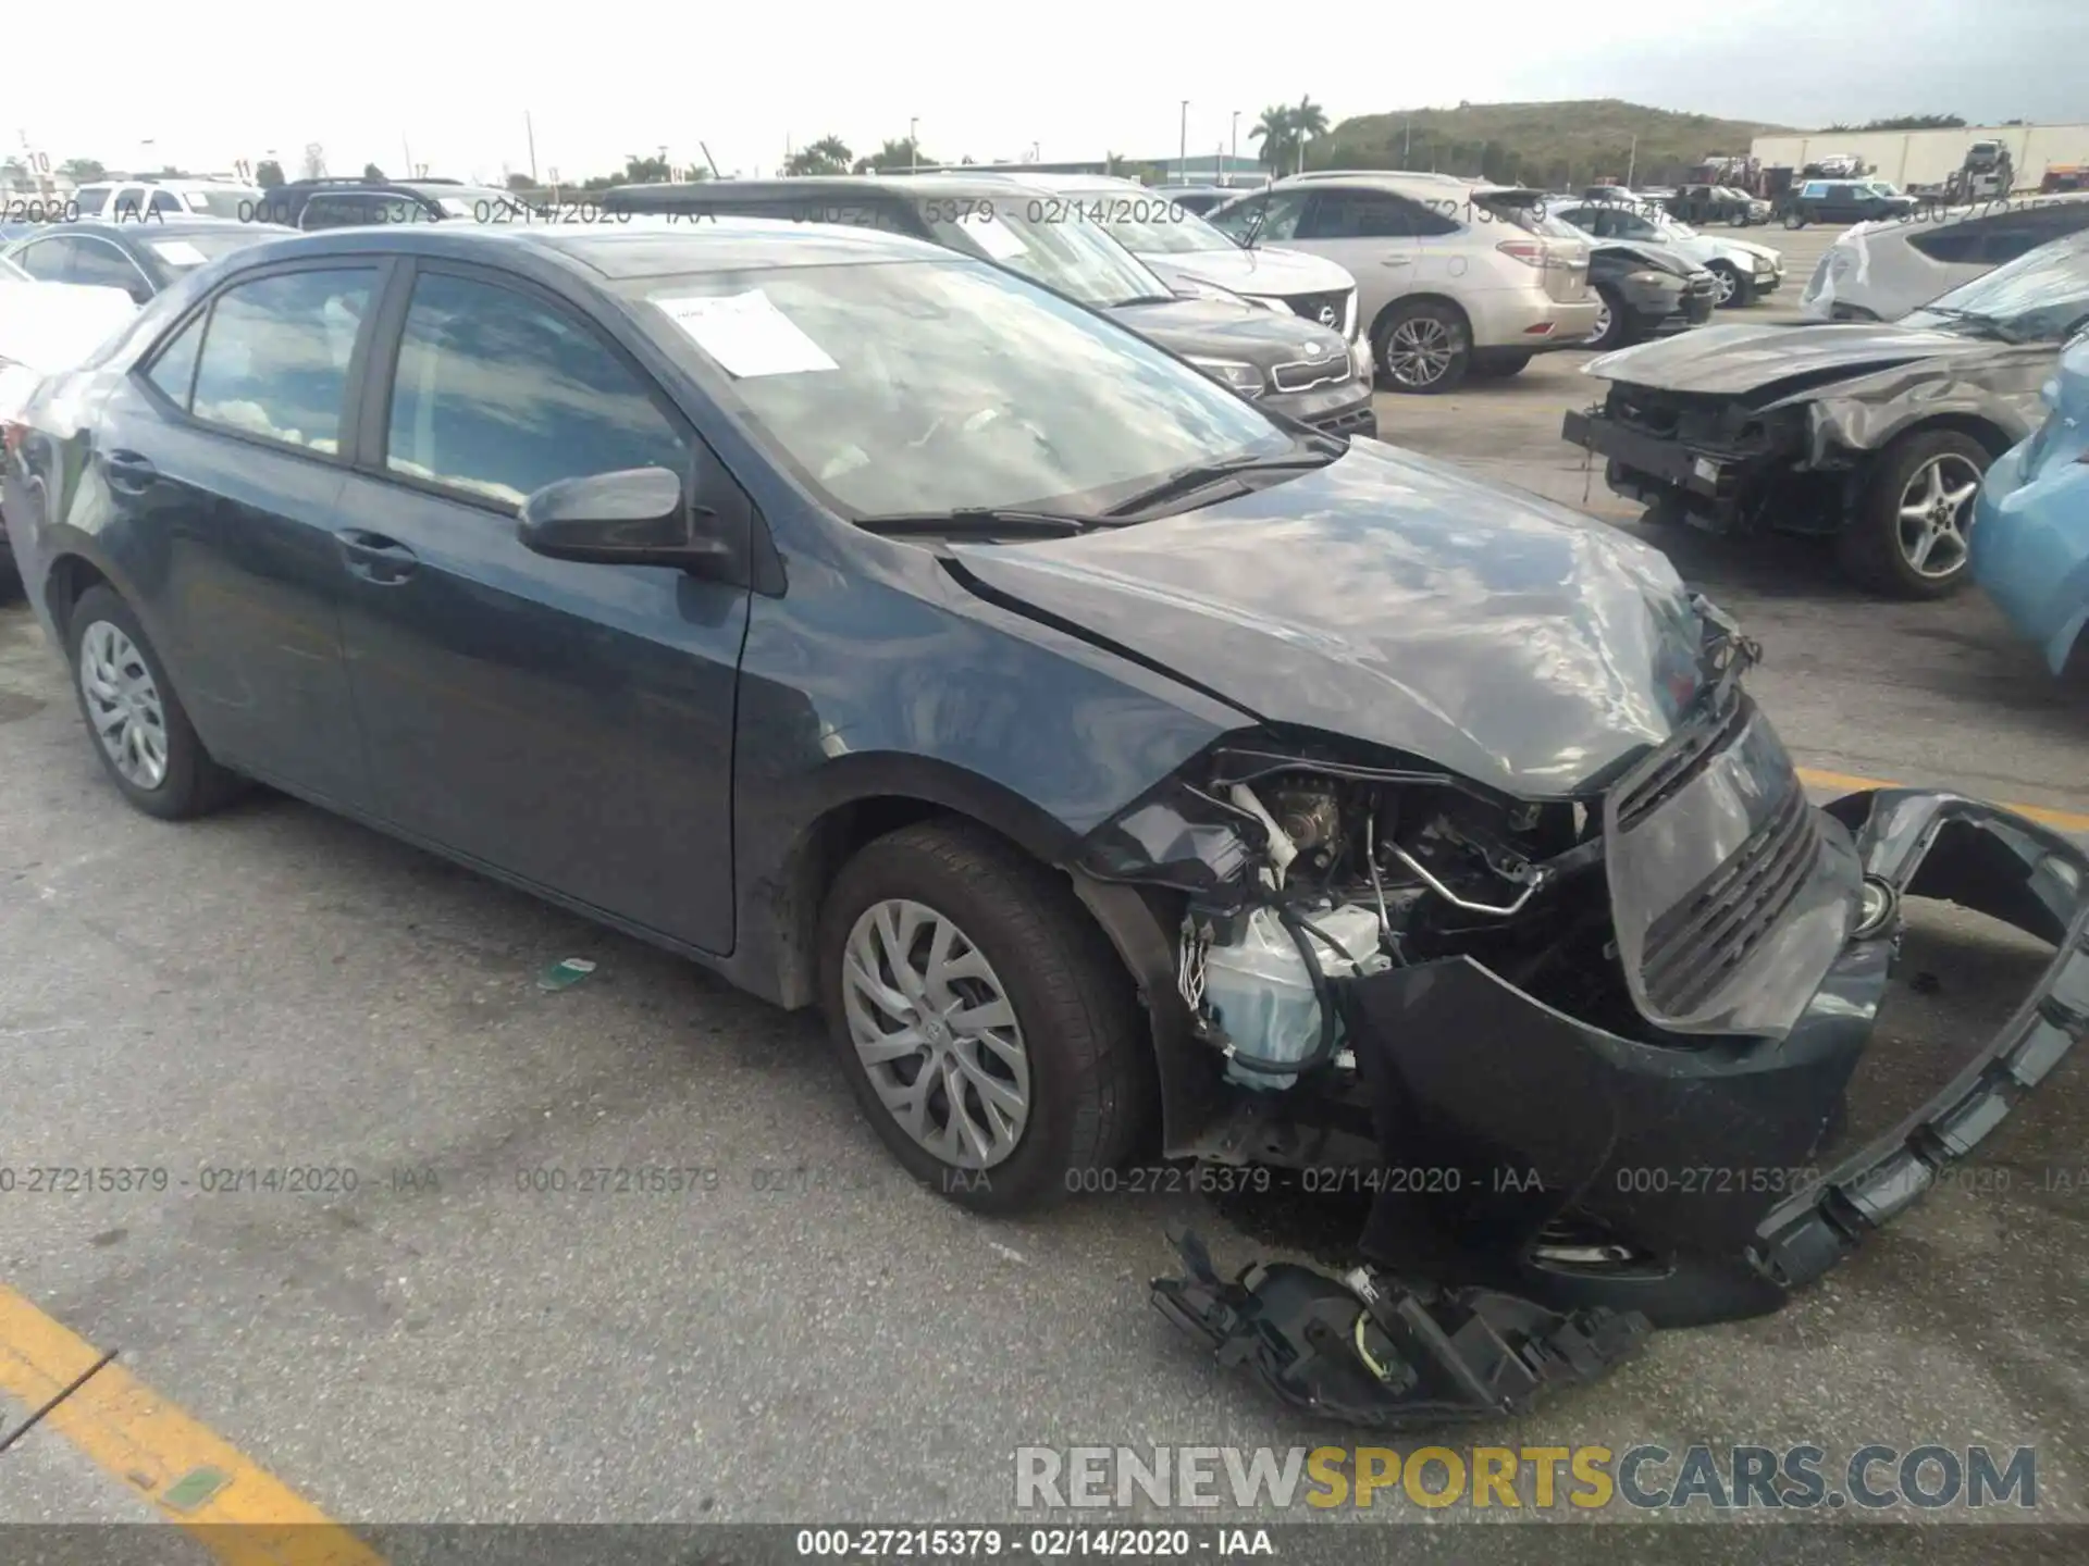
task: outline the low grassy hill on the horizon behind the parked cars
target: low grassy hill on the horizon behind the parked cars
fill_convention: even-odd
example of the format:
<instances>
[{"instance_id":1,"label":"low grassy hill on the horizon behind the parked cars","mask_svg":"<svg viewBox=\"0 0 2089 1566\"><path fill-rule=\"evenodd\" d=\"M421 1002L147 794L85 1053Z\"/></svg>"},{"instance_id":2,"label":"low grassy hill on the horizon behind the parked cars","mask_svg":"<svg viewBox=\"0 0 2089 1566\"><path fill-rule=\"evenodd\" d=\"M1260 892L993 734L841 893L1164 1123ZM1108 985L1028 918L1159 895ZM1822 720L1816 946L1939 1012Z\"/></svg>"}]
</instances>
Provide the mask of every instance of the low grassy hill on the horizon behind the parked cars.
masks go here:
<instances>
[{"instance_id":1,"label":"low grassy hill on the horizon behind the parked cars","mask_svg":"<svg viewBox=\"0 0 2089 1566\"><path fill-rule=\"evenodd\" d=\"M1577 102L1475 102L1358 115L1312 142L1308 169L1441 169L1548 188L1632 177L1673 184L1713 152L1746 152L1784 125L1646 109L1619 98ZM1632 138L1640 150L1632 157Z\"/></svg>"}]
</instances>

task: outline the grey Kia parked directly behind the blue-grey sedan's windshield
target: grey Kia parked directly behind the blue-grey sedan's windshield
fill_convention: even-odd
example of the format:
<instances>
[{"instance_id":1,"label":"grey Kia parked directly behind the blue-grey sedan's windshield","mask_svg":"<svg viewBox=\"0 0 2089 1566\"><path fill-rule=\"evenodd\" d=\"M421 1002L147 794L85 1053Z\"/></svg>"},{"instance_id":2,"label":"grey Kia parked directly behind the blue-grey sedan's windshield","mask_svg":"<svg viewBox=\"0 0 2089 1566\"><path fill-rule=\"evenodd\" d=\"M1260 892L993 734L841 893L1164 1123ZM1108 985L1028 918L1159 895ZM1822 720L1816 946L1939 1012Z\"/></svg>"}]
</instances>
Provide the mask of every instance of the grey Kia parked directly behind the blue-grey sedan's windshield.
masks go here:
<instances>
[{"instance_id":1,"label":"grey Kia parked directly behind the blue-grey sedan's windshield","mask_svg":"<svg viewBox=\"0 0 2089 1566\"><path fill-rule=\"evenodd\" d=\"M1166 207L1172 194L1128 200ZM1331 434L1377 434L1370 376L1341 332L1212 284L1182 296L1084 215L1088 205L992 175L854 175L846 180L702 180L618 186L610 215L769 217L846 223L942 244L1109 311L1214 380Z\"/></svg>"}]
</instances>

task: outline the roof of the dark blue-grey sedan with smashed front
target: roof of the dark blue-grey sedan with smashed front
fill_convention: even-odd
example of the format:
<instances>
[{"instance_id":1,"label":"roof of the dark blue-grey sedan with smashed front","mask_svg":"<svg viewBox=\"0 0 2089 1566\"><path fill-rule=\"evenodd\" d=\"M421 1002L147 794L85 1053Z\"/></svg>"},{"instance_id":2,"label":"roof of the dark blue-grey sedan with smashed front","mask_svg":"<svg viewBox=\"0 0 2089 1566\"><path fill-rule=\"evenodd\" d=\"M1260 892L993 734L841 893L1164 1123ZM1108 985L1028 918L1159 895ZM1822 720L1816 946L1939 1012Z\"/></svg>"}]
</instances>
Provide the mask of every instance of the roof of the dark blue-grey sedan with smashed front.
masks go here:
<instances>
[{"instance_id":1,"label":"roof of the dark blue-grey sedan with smashed front","mask_svg":"<svg viewBox=\"0 0 2089 1566\"><path fill-rule=\"evenodd\" d=\"M963 261L905 234L840 223L719 217L700 223L378 223L284 234L240 253L240 267L305 255L439 255L453 259L556 257L600 278L668 278L748 267L821 267L865 261Z\"/></svg>"}]
</instances>

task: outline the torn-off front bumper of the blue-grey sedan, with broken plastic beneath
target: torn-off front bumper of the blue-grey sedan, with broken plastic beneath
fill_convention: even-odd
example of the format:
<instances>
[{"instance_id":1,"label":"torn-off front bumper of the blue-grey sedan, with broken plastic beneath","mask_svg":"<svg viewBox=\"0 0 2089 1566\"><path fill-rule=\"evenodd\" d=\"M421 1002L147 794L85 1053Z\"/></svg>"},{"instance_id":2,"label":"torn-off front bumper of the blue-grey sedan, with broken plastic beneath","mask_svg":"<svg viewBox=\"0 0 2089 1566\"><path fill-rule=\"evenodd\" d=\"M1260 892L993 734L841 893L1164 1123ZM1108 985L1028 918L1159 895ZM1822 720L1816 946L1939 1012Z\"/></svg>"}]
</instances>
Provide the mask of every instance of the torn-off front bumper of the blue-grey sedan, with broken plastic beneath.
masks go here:
<instances>
[{"instance_id":1,"label":"torn-off front bumper of the blue-grey sedan, with broken plastic beneath","mask_svg":"<svg viewBox=\"0 0 2089 1566\"><path fill-rule=\"evenodd\" d=\"M1786 1034L1627 1040L1469 958L1352 981L1352 1046L1385 1178L1366 1186L1370 1265L1343 1280L1347 1305L1335 1299L1343 1284L1308 1284L1297 1267L1220 1284L1207 1265L1157 1280L1155 1303L1289 1401L1385 1428L1517 1411L1617 1363L1648 1326L1784 1305L1907 1211L2089 1036L2089 854L1951 793L1878 789L1824 814L1822 831L1847 835L1874 887L1876 927L1847 940ZM1905 896L1987 912L2056 950L1922 1109L1834 1150ZM1406 1368L1379 1353L1372 1363L1393 1374L1358 1380L1329 1334L1343 1322L1364 1334L1356 1324L1387 1318L1383 1297L1410 1328ZM1515 1368L1512 1401L1489 1380L1502 1366Z\"/></svg>"}]
</instances>

